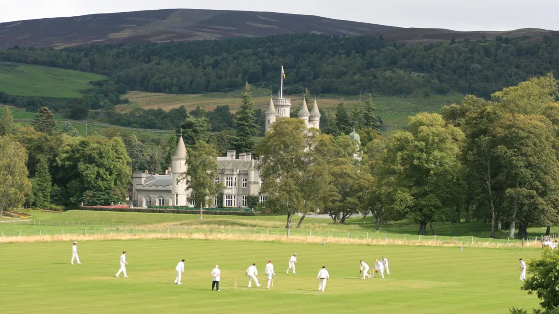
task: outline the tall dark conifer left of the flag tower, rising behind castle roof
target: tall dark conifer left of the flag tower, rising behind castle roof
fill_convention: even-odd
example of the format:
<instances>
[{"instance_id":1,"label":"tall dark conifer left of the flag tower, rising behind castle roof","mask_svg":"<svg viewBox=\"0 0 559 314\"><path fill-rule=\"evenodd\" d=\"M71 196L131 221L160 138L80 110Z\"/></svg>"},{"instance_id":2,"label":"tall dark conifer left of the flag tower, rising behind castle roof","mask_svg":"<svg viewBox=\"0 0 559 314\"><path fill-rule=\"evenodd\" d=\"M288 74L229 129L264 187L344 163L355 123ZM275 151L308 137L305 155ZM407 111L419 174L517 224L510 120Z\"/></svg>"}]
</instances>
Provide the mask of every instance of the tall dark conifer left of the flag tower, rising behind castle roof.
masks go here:
<instances>
[{"instance_id":1,"label":"tall dark conifer left of the flag tower, rising behind castle roof","mask_svg":"<svg viewBox=\"0 0 559 314\"><path fill-rule=\"evenodd\" d=\"M254 101L248 82L245 83L241 94L241 106L235 115L235 122L237 125L235 150L239 153L252 153L254 151L252 137L258 134L258 126L254 122Z\"/></svg>"}]
</instances>

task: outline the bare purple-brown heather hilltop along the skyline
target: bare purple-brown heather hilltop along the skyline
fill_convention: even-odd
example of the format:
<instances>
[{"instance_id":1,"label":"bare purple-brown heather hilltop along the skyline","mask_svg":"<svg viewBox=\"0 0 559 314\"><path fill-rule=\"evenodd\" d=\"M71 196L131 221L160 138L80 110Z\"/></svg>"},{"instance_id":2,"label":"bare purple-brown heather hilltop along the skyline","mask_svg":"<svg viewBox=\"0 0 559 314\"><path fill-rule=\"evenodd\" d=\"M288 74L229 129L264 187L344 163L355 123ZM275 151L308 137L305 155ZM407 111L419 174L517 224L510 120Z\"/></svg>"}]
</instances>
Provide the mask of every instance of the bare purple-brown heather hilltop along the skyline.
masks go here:
<instances>
[{"instance_id":1,"label":"bare purple-brown heather hilltop along the skyline","mask_svg":"<svg viewBox=\"0 0 559 314\"><path fill-rule=\"evenodd\" d=\"M390 41L438 41L517 37L549 32L522 29L508 32L459 32L434 28L403 28L333 18L274 12L204 9L159 9L0 23L0 48L55 47L131 42L169 42L229 37L317 33L326 35L386 34Z\"/></svg>"}]
</instances>

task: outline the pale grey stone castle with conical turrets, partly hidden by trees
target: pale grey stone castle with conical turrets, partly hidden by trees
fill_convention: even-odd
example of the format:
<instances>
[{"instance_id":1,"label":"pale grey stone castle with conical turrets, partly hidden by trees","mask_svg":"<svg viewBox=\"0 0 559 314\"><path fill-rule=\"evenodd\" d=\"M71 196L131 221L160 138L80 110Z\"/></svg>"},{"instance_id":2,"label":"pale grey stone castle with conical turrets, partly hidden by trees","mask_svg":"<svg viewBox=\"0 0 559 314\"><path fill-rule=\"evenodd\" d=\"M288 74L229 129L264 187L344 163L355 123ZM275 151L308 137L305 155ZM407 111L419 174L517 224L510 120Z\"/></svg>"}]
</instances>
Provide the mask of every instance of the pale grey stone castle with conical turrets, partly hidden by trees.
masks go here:
<instances>
[{"instance_id":1,"label":"pale grey stone castle with conical turrets, partly hidden by trees","mask_svg":"<svg viewBox=\"0 0 559 314\"><path fill-rule=\"evenodd\" d=\"M264 112L266 131L269 131L272 123L277 118L290 117L291 99L271 98L268 108ZM320 126L320 112L316 99L312 103L311 111L307 108L305 99L297 116L305 121L307 127ZM196 204L188 201L191 190L186 189L186 183L180 179L180 175L186 172L187 150L184 141L179 138L177 148L174 151L171 166L165 174L149 174L145 172L132 174L132 199L135 206L188 206L195 207ZM225 157L217 157L218 175L216 183L225 185L223 199L214 196L214 207L222 204L224 207L247 207L249 195L259 195L262 178L257 165L259 161L252 158L250 153L240 153L236 157L234 150L228 150ZM259 196L260 202L266 202L266 196ZM221 201L221 202L220 202Z\"/></svg>"}]
</instances>

